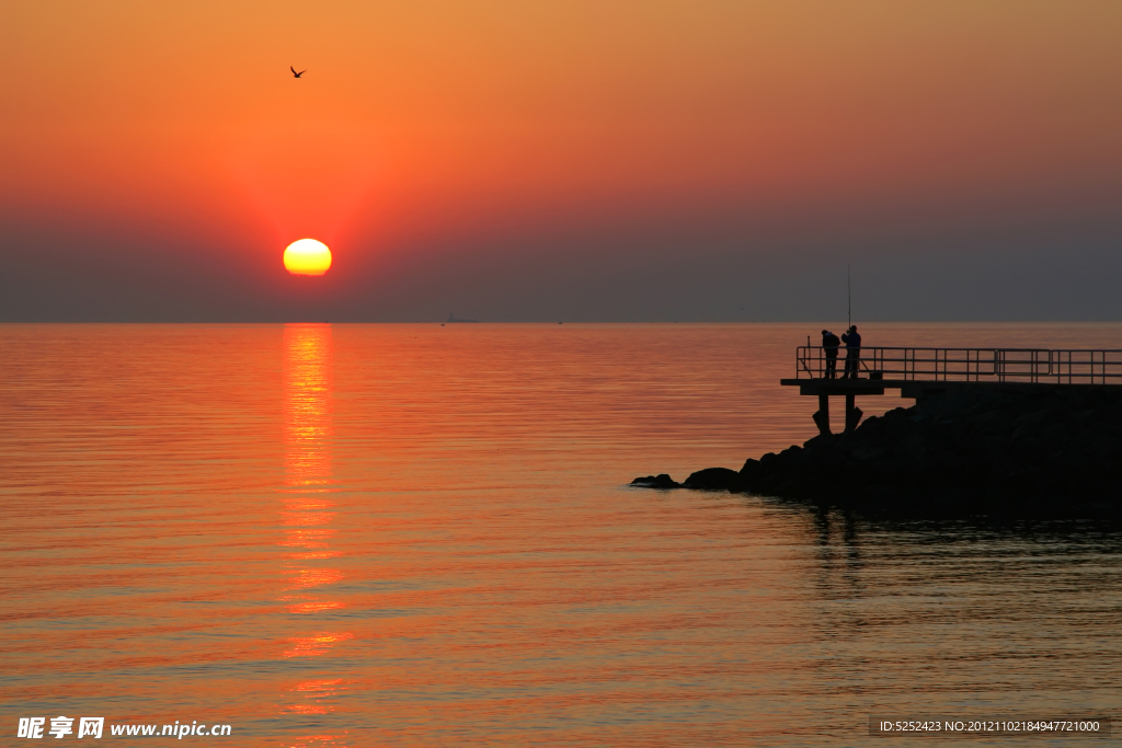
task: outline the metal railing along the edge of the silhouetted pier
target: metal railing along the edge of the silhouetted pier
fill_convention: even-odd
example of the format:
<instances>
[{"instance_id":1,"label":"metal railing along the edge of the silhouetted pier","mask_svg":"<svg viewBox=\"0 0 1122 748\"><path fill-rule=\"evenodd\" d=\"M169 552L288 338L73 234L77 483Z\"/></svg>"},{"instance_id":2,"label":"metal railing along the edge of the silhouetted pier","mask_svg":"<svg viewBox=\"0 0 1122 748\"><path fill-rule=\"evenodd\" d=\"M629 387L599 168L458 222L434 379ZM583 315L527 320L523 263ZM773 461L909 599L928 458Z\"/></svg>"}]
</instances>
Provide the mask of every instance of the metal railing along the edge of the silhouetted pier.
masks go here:
<instances>
[{"instance_id":1,"label":"metal railing along the edge of the silhouetted pier","mask_svg":"<svg viewBox=\"0 0 1122 748\"><path fill-rule=\"evenodd\" d=\"M839 379L845 362L846 349L840 348ZM826 363L826 349L800 345L795 378L821 379L827 373ZM1122 385L1122 350L863 347L858 372L862 379Z\"/></svg>"}]
</instances>

